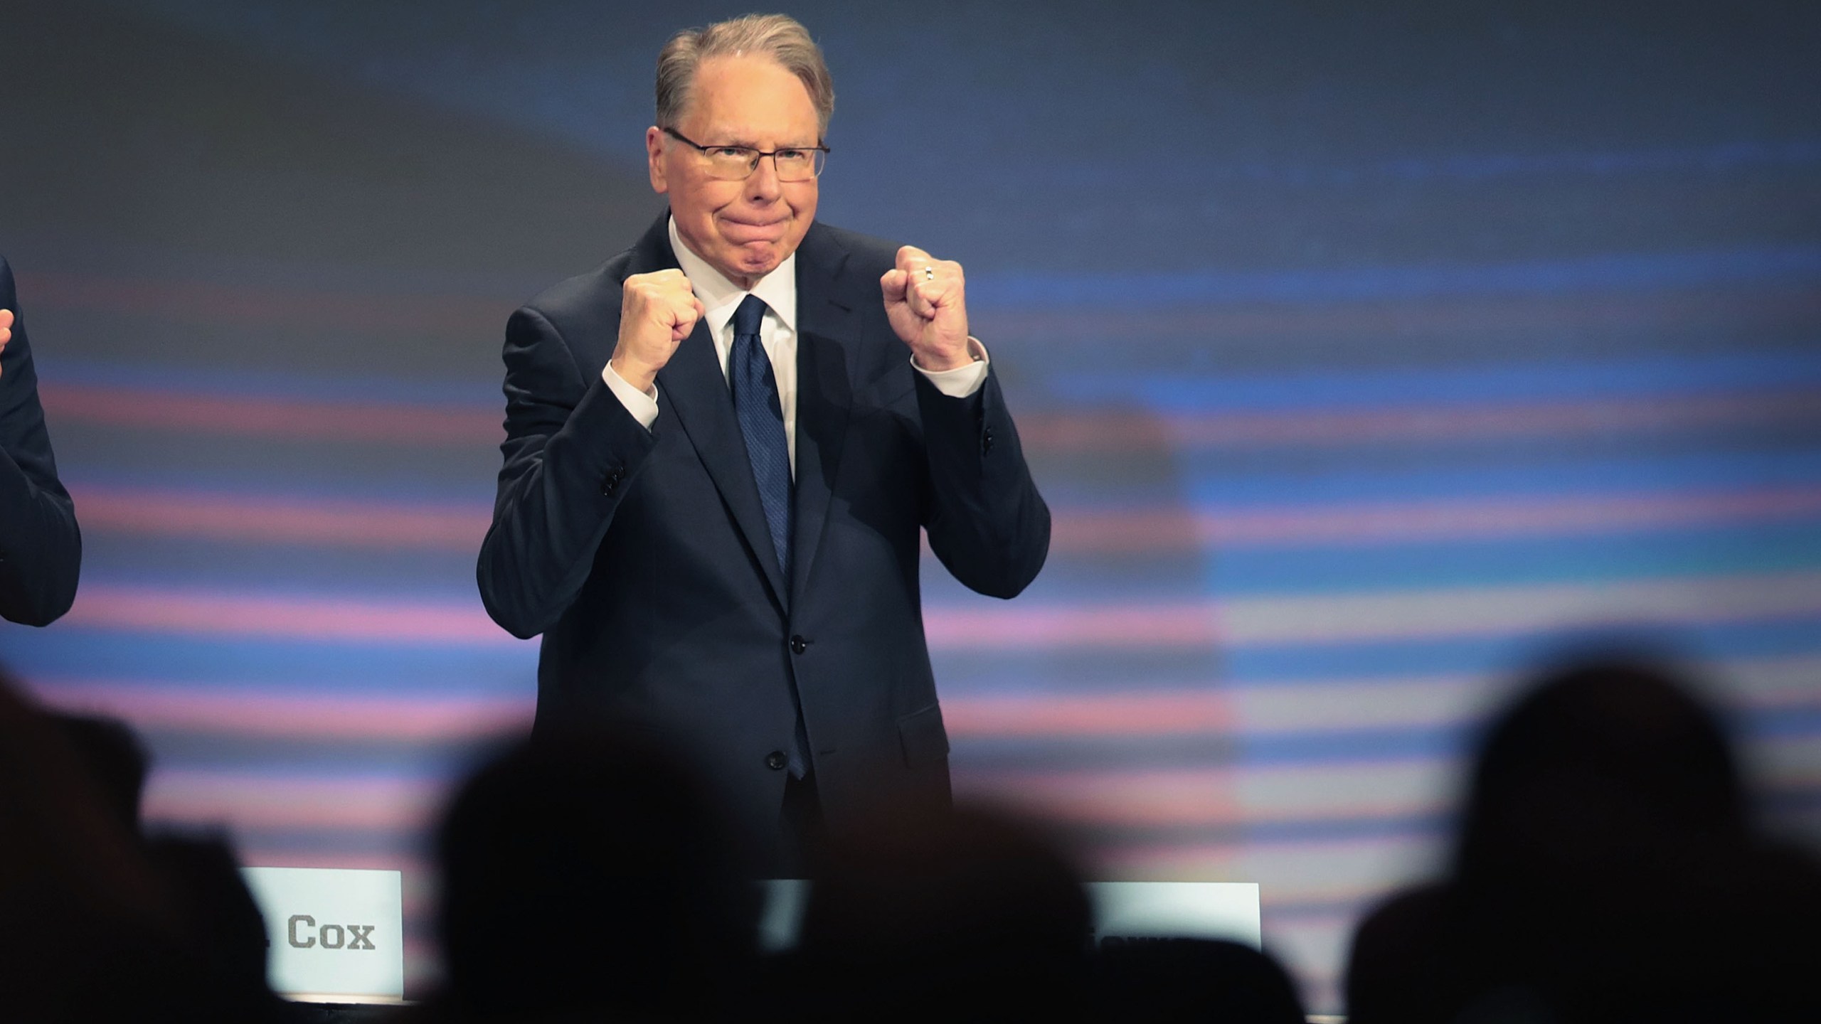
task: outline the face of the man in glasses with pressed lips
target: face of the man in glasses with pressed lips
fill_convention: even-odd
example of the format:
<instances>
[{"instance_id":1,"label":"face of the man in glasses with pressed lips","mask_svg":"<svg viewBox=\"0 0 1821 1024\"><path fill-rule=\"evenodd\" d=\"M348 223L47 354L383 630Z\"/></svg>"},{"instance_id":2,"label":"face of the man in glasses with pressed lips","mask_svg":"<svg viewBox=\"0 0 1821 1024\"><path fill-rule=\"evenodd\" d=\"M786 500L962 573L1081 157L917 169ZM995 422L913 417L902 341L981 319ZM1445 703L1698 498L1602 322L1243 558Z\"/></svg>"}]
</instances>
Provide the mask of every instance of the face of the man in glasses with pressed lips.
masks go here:
<instances>
[{"instance_id":1,"label":"face of the man in glasses with pressed lips","mask_svg":"<svg viewBox=\"0 0 1821 1024\"><path fill-rule=\"evenodd\" d=\"M696 69L681 135L703 146L756 149L821 142L816 104L796 75L768 56L716 56ZM657 128L645 133L652 188L670 195L677 235L745 288L796 251L816 219L816 180L781 182L770 157L745 180L708 177L708 159Z\"/></svg>"}]
</instances>

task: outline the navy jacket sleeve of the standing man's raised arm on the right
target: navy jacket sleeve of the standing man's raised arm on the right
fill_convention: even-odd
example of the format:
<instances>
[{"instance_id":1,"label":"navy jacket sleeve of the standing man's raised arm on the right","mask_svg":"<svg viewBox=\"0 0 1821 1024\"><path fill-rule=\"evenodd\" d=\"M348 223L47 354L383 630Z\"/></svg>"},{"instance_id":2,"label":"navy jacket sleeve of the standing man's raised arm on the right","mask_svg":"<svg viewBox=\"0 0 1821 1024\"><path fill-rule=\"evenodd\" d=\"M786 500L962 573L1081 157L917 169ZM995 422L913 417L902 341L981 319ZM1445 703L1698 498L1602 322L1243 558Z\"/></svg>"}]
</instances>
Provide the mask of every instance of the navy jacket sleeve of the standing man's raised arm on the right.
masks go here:
<instances>
[{"instance_id":1,"label":"navy jacket sleeve of the standing man's raised arm on the right","mask_svg":"<svg viewBox=\"0 0 1821 1024\"><path fill-rule=\"evenodd\" d=\"M998 374L969 397L916 377L929 457L929 547L965 587L1016 598L1049 556L1049 507L1031 479Z\"/></svg>"}]
</instances>

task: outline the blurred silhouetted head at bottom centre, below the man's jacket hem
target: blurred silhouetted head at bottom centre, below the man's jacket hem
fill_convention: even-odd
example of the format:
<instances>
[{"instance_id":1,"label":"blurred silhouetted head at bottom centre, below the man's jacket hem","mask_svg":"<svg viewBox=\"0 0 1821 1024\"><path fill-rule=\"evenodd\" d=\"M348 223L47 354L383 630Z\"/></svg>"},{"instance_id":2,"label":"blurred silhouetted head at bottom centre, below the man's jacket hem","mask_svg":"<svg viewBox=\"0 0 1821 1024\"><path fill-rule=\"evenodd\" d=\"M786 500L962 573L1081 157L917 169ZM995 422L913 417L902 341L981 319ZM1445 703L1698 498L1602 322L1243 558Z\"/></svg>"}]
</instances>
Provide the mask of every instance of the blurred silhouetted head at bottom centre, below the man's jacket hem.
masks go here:
<instances>
[{"instance_id":1,"label":"blurred silhouetted head at bottom centre, below the man's jacket hem","mask_svg":"<svg viewBox=\"0 0 1821 1024\"><path fill-rule=\"evenodd\" d=\"M880 820L836 836L801 931L801 1015L1069 1020L1087 1006L1091 907L1054 842L1014 818Z\"/></svg>"}]
</instances>

